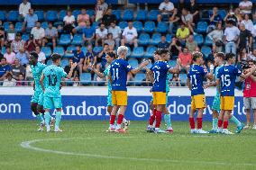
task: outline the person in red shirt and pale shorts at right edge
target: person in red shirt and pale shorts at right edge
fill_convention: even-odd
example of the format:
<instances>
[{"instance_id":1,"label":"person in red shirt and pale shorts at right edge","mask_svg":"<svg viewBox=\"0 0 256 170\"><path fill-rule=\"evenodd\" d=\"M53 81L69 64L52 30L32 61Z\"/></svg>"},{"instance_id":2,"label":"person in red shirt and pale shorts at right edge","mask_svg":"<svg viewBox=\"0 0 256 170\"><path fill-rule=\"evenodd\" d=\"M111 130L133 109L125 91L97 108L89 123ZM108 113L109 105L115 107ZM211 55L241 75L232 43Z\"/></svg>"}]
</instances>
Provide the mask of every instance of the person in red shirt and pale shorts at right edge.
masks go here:
<instances>
[{"instance_id":1,"label":"person in red shirt and pale shorts at right edge","mask_svg":"<svg viewBox=\"0 0 256 170\"><path fill-rule=\"evenodd\" d=\"M248 62L249 67L253 67L255 62L250 60ZM245 72L248 70L245 70ZM243 105L246 110L246 120L247 125L244 127L245 129L250 128L251 121L251 109L254 112L254 123L253 130L256 130L256 75L251 75L244 81L244 89L243 89Z\"/></svg>"}]
</instances>

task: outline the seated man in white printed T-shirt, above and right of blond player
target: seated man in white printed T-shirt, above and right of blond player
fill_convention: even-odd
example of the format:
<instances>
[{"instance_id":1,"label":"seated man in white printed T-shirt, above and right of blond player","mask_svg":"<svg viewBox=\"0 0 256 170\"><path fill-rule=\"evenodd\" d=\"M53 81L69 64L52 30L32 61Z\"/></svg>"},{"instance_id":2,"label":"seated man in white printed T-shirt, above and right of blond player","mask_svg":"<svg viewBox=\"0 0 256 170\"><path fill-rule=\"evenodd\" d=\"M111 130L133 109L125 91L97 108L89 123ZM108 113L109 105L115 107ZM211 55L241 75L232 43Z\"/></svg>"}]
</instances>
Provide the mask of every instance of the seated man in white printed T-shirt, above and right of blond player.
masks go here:
<instances>
[{"instance_id":1,"label":"seated man in white printed T-shirt, above and right of blond player","mask_svg":"<svg viewBox=\"0 0 256 170\"><path fill-rule=\"evenodd\" d=\"M121 45L124 46L126 44L132 45L134 47L138 47L138 32L137 30L133 27L133 22L129 21L128 22L128 27L125 27L123 30L123 39L121 40Z\"/></svg>"}]
</instances>

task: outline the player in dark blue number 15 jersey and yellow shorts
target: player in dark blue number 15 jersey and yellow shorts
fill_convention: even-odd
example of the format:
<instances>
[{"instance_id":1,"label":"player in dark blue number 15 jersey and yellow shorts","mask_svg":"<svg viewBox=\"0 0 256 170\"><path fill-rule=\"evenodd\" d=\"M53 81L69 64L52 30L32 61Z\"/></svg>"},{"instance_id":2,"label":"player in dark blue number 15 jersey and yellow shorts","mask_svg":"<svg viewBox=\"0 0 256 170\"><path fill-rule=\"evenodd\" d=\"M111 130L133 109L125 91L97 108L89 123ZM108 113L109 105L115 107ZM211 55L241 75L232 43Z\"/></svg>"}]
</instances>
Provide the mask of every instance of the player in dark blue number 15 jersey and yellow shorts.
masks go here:
<instances>
[{"instance_id":1,"label":"player in dark blue number 15 jersey and yellow shorts","mask_svg":"<svg viewBox=\"0 0 256 170\"><path fill-rule=\"evenodd\" d=\"M228 120L231 117L231 113L234 107L234 84L237 76L241 76L242 78L247 78L251 76L251 74L255 73L256 67L251 68L251 71L246 75L242 74L242 72L234 67L235 63L233 53L226 54L225 58L227 60L226 64L223 67L219 68L216 84L219 85L220 95L221 95L221 113L218 117L218 129L221 129L223 124L222 133L230 135L233 132L227 130ZM240 132L243 126L237 130Z\"/></svg>"}]
</instances>

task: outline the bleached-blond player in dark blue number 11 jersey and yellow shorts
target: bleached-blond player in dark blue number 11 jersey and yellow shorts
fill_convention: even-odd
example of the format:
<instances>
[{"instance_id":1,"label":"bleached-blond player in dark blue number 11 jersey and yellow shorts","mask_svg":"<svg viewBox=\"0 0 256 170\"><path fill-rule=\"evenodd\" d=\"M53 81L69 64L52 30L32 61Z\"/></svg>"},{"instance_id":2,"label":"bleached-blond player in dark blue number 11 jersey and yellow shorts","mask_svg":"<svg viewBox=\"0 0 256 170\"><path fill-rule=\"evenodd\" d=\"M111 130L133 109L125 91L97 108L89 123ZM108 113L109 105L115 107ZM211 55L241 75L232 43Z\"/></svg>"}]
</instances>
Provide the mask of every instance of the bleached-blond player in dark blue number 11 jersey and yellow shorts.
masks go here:
<instances>
[{"instance_id":1,"label":"bleached-blond player in dark blue number 11 jersey and yellow shorts","mask_svg":"<svg viewBox=\"0 0 256 170\"><path fill-rule=\"evenodd\" d=\"M132 74L137 74L142 70L143 67L147 66L150 61L144 61L140 67L133 68L125 60L127 56L128 48L125 46L120 46L117 49L118 58L115 59L110 65L109 69L109 80L112 85L112 103L114 105L111 112L110 118L110 130L116 132L124 132L121 128L121 123L123 121L123 115L127 107L127 74L131 72ZM116 113L119 111L117 125L114 127L114 120Z\"/></svg>"}]
</instances>

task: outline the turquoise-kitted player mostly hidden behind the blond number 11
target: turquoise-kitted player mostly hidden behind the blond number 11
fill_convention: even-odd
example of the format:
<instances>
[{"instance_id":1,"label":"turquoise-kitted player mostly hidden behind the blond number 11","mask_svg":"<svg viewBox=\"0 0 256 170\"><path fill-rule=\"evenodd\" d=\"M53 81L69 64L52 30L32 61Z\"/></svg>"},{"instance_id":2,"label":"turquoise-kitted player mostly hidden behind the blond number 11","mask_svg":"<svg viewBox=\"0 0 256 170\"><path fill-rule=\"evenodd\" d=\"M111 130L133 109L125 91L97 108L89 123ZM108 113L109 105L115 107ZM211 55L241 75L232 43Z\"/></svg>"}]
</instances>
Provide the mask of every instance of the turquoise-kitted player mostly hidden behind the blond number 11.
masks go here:
<instances>
[{"instance_id":1,"label":"turquoise-kitted player mostly hidden behind the blond number 11","mask_svg":"<svg viewBox=\"0 0 256 170\"><path fill-rule=\"evenodd\" d=\"M108 67L105 68L104 73L99 72L96 69L96 67L94 67L94 66L90 66L90 67L96 73L97 76L99 76L101 78L106 77L106 79L108 79L110 65L115 59L114 52L106 53L105 59L108 64ZM112 86L111 86L110 81L108 80L107 81L107 112L109 113L109 115L111 114L112 109L113 109L111 90L112 90ZM123 130L127 130L129 125L130 125L130 121L127 121L125 118L123 118ZM107 130L107 131L109 131L109 130Z\"/></svg>"}]
</instances>

